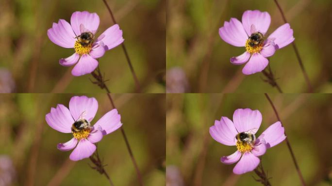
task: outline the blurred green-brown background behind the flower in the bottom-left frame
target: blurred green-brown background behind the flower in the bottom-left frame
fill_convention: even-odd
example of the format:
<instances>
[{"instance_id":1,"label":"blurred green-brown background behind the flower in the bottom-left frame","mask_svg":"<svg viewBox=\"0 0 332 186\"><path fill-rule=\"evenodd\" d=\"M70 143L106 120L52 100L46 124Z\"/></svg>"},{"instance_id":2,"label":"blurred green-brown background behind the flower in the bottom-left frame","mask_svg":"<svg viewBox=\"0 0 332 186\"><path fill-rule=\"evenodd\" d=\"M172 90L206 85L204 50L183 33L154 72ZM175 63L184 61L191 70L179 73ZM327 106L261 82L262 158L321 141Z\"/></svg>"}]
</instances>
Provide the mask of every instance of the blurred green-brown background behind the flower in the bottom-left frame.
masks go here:
<instances>
[{"instance_id":1,"label":"blurred green-brown background behind the flower in the bottom-left frame","mask_svg":"<svg viewBox=\"0 0 332 186\"><path fill-rule=\"evenodd\" d=\"M77 95L77 94L75 94ZM95 97L99 109L92 124L111 104L106 94ZM91 169L89 159L73 162L71 151L59 151L59 142L71 134L53 130L45 121L51 107L68 107L71 94L0 94L0 156L9 155L15 168L13 186L105 186L104 175ZM145 186L165 185L166 106L163 94L113 94L121 122L133 150ZM136 172L118 129L98 143L100 158L107 164L115 186L138 185ZM1 166L0 166L1 167ZM4 175L0 169L0 181Z\"/></svg>"}]
</instances>

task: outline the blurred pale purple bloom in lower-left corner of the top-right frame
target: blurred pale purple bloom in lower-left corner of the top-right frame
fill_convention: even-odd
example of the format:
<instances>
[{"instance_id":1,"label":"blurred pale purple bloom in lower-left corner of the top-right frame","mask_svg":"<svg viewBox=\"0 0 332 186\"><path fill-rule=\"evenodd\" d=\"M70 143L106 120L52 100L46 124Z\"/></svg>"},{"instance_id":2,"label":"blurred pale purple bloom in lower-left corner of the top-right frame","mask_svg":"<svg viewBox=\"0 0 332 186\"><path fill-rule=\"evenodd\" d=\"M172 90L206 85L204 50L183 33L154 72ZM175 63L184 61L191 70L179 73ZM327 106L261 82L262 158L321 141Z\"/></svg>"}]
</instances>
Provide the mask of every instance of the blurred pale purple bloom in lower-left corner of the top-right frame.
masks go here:
<instances>
[{"instance_id":1,"label":"blurred pale purple bloom in lower-left corner of the top-right frame","mask_svg":"<svg viewBox=\"0 0 332 186\"><path fill-rule=\"evenodd\" d=\"M188 91L188 80L180 67L173 67L166 72L166 93L185 93Z\"/></svg>"}]
</instances>

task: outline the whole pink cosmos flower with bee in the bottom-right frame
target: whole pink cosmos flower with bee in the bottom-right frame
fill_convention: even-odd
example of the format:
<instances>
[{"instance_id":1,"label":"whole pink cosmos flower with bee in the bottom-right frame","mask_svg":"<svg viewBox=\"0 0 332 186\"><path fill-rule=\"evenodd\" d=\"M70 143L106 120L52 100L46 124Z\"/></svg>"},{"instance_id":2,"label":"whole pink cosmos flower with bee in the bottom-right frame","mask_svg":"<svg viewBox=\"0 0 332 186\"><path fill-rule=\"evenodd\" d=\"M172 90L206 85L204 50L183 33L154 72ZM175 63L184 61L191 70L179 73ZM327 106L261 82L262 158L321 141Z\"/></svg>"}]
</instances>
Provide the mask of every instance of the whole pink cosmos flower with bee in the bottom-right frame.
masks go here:
<instances>
[{"instance_id":1,"label":"whole pink cosmos flower with bee in the bottom-right frame","mask_svg":"<svg viewBox=\"0 0 332 186\"><path fill-rule=\"evenodd\" d=\"M253 171L260 162L257 156L264 155L266 149L279 144L286 138L282 124L276 122L256 139L254 136L262 123L262 114L258 110L236 109L233 122L227 117L221 117L220 121L216 120L215 125L210 127L210 135L219 143L236 146L235 153L220 159L224 164L233 164L240 160L233 169L235 174ZM252 143L244 142L248 140L244 139L247 134L253 135ZM237 140L237 137L240 140Z\"/></svg>"}]
</instances>

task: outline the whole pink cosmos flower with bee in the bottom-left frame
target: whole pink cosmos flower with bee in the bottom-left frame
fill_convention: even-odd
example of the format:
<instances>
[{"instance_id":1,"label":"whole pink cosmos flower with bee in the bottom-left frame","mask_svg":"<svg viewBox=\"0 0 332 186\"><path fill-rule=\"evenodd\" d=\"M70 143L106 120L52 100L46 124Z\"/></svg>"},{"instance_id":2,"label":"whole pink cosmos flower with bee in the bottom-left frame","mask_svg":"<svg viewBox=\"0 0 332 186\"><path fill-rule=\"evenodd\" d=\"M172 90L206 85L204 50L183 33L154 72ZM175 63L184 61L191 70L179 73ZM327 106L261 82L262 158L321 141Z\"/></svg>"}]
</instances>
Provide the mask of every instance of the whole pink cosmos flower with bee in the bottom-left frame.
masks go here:
<instances>
[{"instance_id":1,"label":"whole pink cosmos flower with bee in the bottom-left frame","mask_svg":"<svg viewBox=\"0 0 332 186\"><path fill-rule=\"evenodd\" d=\"M95 98L74 96L69 101L69 109L58 104L56 108L51 108L50 113L46 114L46 122L54 130L73 134L71 140L58 144L60 151L69 151L76 147L69 156L73 161L91 156L96 151L96 145L93 143L99 142L103 135L110 134L122 126L121 116L116 109L107 112L96 124L91 126L90 122L95 117L97 109L98 102ZM78 130L83 123L86 124L85 127Z\"/></svg>"}]
</instances>

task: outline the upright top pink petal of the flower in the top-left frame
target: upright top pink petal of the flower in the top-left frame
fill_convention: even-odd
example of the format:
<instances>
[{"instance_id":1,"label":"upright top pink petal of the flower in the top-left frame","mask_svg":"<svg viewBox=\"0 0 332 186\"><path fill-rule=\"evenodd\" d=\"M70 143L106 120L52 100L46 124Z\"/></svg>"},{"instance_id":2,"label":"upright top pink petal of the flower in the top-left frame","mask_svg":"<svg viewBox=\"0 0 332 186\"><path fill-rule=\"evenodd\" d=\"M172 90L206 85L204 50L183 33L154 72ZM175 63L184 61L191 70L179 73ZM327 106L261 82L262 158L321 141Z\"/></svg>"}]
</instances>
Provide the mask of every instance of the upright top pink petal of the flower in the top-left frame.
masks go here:
<instances>
[{"instance_id":1,"label":"upright top pink petal of the flower in the top-left frame","mask_svg":"<svg viewBox=\"0 0 332 186\"><path fill-rule=\"evenodd\" d=\"M89 13L87 11L74 12L70 17L70 24L77 36L81 35L81 24L83 24L86 30L95 34L99 27L99 21L99 16L96 13Z\"/></svg>"}]
</instances>

